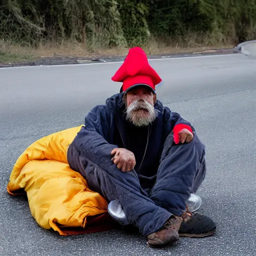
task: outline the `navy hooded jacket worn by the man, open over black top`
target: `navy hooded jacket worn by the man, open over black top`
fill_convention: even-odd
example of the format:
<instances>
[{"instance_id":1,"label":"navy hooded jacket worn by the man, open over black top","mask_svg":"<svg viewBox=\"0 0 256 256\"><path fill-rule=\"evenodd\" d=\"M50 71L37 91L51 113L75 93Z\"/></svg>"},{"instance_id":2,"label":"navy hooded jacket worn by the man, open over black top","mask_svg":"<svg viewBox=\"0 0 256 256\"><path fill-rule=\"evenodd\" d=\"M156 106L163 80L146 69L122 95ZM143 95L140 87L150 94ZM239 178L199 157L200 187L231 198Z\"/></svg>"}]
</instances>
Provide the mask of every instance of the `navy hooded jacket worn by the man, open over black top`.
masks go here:
<instances>
[{"instance_id":1,"label":"navy hooded jacket worn by the man, open over black top","mask_svg":"<svg viewBox=\"0 0 256 256\"><path fill-rule=\"evenodd\" d=\"M97 105L85 116L85 125L69 145L72 155L67 153L72 169L82 172L88 164L101 169L117 168L111 161L113 148L122 147L135 155L141 187L150 189L156 178L160 157L166 137L176 124L191 124L178 113L157 100L154 108L157 117L148 127L135 127L125 120L125 104L118 93L106 100L105 105ZM72 157L72 160L69 160ZM82 173L81 173L82 174Z\"/></svg>"}]
</instances>

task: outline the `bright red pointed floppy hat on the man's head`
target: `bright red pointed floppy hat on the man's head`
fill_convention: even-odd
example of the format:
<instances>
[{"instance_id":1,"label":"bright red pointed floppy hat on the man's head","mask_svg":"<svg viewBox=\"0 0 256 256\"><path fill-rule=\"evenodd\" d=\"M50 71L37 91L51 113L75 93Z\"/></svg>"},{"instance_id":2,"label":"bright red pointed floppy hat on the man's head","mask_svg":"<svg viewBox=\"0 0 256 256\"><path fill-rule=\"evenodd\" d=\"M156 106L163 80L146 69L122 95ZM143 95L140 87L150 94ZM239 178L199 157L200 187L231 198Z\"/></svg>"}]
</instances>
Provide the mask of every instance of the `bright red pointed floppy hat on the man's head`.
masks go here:
<instances>
[{"instance_id":1,"label":"bright red pointed floppy hat on the man's head","mask_svg":"<svg viewBox=\"0 0 256 256\"><path fill-rule=\"evenodd\" d=\"M122 90L125 92L141 84L150 86L154 91L155 85L162 80L149 65L146 53L140 47L129 49L124 62L111 79L122 82Z\"/></svg>"}]
</instances>

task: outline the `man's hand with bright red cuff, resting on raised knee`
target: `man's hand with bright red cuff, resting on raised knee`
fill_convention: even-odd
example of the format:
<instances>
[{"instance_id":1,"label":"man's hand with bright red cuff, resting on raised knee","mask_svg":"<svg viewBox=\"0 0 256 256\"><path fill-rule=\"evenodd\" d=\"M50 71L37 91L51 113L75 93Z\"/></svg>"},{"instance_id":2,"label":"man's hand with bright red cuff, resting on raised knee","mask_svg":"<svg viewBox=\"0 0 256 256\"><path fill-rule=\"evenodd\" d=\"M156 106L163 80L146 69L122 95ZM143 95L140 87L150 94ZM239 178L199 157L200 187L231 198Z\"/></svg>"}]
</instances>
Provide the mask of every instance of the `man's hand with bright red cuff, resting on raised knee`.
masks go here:
<instances>
[{"instance_id":1,"label":"man's hand with bright red cuff, resting on raised knee","mask_svg":"<svg viewBox=\"0 0 256 256\"><path fill-rule=\"evenodd\" d=\"M190 142L193 138L193 131L189 125L179 123L174 126L173 128L173 139L174 143L178 144L180 141L181 143Z\"/></svg>"}]
</instances>

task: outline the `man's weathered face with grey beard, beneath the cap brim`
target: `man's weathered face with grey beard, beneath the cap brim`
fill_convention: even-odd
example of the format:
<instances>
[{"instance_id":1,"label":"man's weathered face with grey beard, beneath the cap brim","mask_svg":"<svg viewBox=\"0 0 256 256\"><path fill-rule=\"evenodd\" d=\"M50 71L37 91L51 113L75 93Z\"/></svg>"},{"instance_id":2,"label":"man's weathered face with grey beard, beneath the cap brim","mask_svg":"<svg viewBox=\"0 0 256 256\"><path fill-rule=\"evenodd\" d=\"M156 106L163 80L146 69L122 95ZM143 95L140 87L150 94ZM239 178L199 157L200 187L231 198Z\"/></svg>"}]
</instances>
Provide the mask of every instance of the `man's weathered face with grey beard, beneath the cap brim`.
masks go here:
<instances>
[{"instance_id":1,"label":"man's weathered face with grey beard, beneath the cap brim","mask_svg":"<svg viewBox=\"0 0 256 256\"><path fill-rule=\"evenodd\" d=\"M126 120L135 126L147 126L156 117L154 103L156 95L146 86L136 86L127 92L124 98Z\"/></svg>"}]
</instances>

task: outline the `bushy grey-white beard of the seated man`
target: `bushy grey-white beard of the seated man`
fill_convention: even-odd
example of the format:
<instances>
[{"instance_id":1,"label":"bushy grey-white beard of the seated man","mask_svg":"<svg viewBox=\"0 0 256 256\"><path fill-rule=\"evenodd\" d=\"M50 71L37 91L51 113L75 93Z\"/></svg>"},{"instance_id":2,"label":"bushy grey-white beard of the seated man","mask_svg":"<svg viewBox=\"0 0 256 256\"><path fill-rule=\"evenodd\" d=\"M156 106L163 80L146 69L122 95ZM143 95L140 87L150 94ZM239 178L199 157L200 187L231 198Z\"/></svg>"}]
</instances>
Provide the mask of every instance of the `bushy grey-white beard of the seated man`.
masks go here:
<instances>
[{"instance_id":1,"label":"bushy grey-white beard of the seated man","mask_svg":"<svg viewBox=\"0 0 256 256\"><path fill-rule=\"evenodd\" d=\"M136 99L126 108L126 120L135 126L148 126L156 118L154 107L144 99Z\"/></svg>"}]
</instances>

